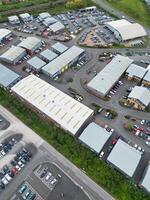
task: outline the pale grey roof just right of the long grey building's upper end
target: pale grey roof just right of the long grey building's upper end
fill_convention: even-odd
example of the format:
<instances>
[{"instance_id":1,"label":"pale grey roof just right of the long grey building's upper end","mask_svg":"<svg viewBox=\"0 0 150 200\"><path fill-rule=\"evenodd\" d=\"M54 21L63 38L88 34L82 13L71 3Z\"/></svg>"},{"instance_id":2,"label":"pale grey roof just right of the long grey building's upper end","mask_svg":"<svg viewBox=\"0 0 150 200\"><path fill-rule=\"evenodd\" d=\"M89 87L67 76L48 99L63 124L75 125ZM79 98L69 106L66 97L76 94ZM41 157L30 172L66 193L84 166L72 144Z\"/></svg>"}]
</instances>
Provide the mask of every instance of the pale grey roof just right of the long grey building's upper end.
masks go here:
<instances>
[{"instance_id":1,"label":"pale grey roof just right of the long grey building's upper end","mask_svg":"<svg viewBox=\"0 0 150 200\"><path fill-rule=\"evenodd\" d=\"M136 64L131 64L126 72L128 73L129 77L136 76L142 79L145 73L147 72L147 69Z\"/></svg>"}]
</instances>

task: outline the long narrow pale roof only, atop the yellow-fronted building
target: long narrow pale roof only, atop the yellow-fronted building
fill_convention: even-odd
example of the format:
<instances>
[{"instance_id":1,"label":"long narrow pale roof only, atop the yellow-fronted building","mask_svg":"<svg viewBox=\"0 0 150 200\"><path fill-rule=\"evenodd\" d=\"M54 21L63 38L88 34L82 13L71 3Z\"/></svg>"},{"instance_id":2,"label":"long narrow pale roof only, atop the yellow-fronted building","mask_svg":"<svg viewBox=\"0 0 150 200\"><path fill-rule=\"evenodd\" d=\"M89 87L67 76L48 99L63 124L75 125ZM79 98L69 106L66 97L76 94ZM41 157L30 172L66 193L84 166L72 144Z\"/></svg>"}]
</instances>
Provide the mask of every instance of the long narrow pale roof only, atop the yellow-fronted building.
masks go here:
<instances>
[{"instance_id":1,"label":"long narrow pale roof only, atop the yellow-fronted building","mask_svg":"<svg viewBox=\"0 0 150 200\"><path fill-rule=\"evenodd\" d=\"M73 61L76 57L78 57L84 50L77 47L72 46L70 49L65 51L63 54L55 58L53 61L45 65L42 69L49 73L51 76L55 75L59 72L64 66L68 65L71 61Z\"/></svg>"}]
</instances>

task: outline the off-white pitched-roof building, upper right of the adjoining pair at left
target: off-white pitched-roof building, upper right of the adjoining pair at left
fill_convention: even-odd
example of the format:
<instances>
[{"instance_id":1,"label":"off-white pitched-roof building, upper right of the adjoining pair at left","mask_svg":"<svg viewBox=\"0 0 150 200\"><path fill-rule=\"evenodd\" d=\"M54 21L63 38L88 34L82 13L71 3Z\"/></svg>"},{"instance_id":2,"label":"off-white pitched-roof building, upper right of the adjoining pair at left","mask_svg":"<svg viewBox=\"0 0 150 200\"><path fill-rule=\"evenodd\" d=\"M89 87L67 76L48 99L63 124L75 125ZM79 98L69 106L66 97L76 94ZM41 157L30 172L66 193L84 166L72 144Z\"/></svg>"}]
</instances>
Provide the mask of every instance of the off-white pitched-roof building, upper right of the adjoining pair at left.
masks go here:
<instances>
[{"instance_id":1,"label":"off-white pitched-roof building, upper right of the adjoining pair at left","mask_svg":"<svg viewBox=\"0 0 150 200\"><path fill-rule=\"evenodd\" d=\"M25 40L18 44L19 47L32 50L36 45L41 43L41 40L36 37L27 37Z\"/></svg>"}]
</instances>

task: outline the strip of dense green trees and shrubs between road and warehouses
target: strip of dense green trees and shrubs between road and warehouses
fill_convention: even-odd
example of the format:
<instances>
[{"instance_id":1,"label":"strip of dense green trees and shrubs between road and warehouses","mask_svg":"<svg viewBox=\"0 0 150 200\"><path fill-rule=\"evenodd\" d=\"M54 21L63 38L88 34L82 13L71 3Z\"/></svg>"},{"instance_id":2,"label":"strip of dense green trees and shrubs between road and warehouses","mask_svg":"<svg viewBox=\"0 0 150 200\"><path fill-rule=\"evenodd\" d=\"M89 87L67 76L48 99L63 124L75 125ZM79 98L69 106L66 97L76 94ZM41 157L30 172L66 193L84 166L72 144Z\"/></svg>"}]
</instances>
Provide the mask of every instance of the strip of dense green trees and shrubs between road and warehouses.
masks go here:
<instances>
[{"instance_id":1,"label":"strip of dense green trees and shrubs between road and warehouses","mask_svg":"<svg viewBox=\"0 0 150 200\"><path fill-rule=\"evenodd\" d=\"M56 127L49 120L42 119L26 104L0 89L0 104L10 110L27 126L61 152L76 166L105 188L117 200L149 200L149 195L139 190L118 171L109 167L89 149L70 134Z\"/></svg>"}]
</instances>

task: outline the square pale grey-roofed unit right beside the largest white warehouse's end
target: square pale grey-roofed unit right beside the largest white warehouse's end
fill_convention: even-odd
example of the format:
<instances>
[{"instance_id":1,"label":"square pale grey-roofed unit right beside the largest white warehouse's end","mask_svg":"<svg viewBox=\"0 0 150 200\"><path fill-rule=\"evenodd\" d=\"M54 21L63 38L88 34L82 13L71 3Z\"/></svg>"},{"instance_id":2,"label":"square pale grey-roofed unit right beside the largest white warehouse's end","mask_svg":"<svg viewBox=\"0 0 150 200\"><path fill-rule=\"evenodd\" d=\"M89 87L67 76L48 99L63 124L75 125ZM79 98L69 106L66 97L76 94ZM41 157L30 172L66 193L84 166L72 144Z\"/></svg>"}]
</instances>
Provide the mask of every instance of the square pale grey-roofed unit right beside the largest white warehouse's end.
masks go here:
<instances>
[{"instance_id":1,"label":"square pale grey-roofed unit right beside the largest white warehouse's end","mask_svg":"<svg viewBox=\"0 0 150 200\"><path fill-rule=\"evenodd\" d=\"M99 154L110 136L110 132L92 122L84 129L79 139L92 151Z\"/></svg>"}]
</instances>

